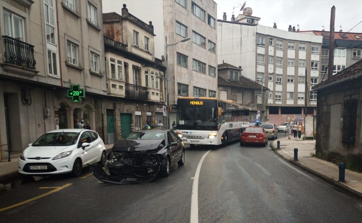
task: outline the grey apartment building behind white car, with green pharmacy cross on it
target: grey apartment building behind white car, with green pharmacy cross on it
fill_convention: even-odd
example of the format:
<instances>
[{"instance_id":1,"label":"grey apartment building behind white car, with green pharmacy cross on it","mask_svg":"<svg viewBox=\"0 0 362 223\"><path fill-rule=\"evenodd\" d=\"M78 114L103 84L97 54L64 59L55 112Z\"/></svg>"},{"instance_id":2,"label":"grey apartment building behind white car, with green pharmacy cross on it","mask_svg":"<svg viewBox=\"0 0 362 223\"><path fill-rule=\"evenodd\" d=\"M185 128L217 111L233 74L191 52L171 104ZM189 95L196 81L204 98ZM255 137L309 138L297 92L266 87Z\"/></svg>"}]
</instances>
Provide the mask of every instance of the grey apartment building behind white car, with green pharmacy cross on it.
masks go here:
<instances>
[{"instance_id":1,"label":"grey apartment building behind white car, with green pharmacy cross on it","mask_svg":"<svg viewBox=\"0 0 362 223\"><path fill-rule=\"evenodd\" d=\"M21 152L74 117L95 129L94 98L106 95L101 12L101 0L0 0L0 144ZM72 84L82 103L67 98Z\"/></svg>"}]
</instances>

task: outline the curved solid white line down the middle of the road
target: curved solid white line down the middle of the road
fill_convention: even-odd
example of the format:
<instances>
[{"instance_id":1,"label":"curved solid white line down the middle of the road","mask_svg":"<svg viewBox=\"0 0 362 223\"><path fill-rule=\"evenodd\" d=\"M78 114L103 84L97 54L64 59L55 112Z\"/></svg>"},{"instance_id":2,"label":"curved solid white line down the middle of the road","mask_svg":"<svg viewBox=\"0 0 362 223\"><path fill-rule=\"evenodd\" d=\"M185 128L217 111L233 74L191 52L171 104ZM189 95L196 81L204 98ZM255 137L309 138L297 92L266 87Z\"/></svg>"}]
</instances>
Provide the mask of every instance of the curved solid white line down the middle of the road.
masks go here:
<instances>
[{"instance_id":1,"label":"curved solid white line down the middle of the road","mask_svg":"<svg viewBox=\"0 0 362 223\"><path fill-rule=\"evenodd\" d=\"M199 190L199 175L201 170L201 165L206 155L210 153L211 150L207 151L200 159L199 164L197 165L192 184L192 194L191 194L191 213L190 213L190 223L199 222L199 207L198 207L198 190Z\"/></svg>"}]
</instances>

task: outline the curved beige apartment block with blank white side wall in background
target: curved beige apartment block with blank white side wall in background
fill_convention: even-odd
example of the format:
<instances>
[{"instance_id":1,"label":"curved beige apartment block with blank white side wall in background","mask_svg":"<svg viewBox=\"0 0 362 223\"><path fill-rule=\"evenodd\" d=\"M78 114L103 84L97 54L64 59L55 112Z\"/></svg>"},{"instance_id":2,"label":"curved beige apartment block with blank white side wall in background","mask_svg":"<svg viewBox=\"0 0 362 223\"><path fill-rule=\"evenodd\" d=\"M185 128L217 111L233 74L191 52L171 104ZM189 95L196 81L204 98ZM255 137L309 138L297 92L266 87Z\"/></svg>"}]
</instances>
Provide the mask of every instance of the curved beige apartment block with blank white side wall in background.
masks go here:
<instances>
[{"instance_id":1,"label":"curved beige apartment block with blank white side wall in background","mask_svg":"<svg viewBox=\"0 0 362 223\"><path fill-rule=\"evenodd\" d=\"M250 16L250 15L249 15ZM238 18L238 17L237 17ZM241 64L243 76L263 83L269 90L263 120L279 125L293 115L314 114L317 95L307 94L305 81L319 83L322 37L256 24L245 20L218 20L218 61ZM307 70L307 76L306 76ZM271 74L271 75L269 75ZM269 75L269 76L268 76ZM266 77L265 77L266 76ZM264 77L264 78L263 78ZM263 109L264 110L264 109Z\"/></svg>"}]
</instances>

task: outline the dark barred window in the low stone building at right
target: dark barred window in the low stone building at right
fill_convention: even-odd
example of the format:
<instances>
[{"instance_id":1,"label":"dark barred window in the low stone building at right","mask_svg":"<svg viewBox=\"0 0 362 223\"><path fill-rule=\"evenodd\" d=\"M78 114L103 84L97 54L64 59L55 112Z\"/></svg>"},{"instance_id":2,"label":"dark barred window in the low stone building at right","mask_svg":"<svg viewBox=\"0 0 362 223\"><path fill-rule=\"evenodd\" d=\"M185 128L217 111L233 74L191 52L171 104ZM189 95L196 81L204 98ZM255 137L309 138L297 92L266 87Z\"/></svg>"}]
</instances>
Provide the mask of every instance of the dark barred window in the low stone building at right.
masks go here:
<instances>
[{"instance_id":1,"label":"dark barred window in the low stone building at right","mask_svg":"<svg viewBox=\"0 0 362 223\"><path fill-rule=\"evenodd\" d=\"M343 103L342 142L354 145L356 140L358 100L347 100Z\"/></svg>"}]
</instances>

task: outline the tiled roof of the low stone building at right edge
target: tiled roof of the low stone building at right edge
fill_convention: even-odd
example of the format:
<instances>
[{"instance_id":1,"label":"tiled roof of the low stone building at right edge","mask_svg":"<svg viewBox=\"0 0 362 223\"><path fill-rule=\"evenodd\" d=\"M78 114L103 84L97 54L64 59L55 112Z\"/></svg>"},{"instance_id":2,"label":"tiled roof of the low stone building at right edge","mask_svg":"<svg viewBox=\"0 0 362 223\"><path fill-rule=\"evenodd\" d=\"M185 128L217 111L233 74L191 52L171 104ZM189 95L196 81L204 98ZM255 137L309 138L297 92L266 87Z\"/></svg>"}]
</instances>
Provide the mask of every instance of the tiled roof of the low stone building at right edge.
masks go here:
<instances>
[{"instance_id":1,"label":"tiled roof of the low stone building at right edge","mask_svg":"<svg viewBox=\"0 0 362 223\"><path fill-rule=\"evenodd\" d=\"M335 82L337 81L341 81L341 80L346 80L346 78L351 77L350 81L354 80L353 78L356 77L357 75L359 77L362 77L362 60L358 61L355 64L350 65L348 68L334 74L331 78L317 84L316 86L312 87L312 91L317 91L319 89L325 88L325 87L329 87L331 85L333 85Z\"/></svg>"}]
</instances>

